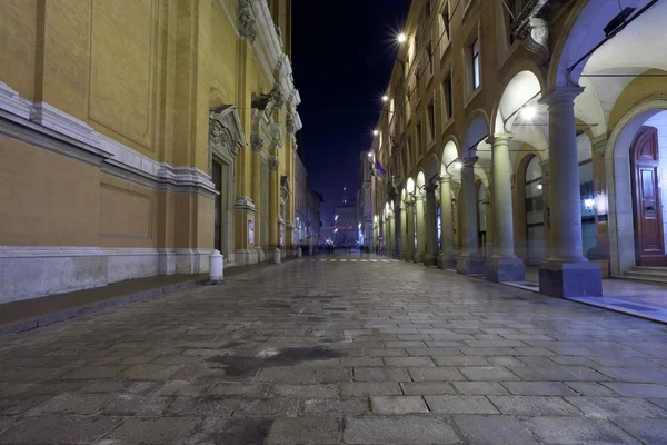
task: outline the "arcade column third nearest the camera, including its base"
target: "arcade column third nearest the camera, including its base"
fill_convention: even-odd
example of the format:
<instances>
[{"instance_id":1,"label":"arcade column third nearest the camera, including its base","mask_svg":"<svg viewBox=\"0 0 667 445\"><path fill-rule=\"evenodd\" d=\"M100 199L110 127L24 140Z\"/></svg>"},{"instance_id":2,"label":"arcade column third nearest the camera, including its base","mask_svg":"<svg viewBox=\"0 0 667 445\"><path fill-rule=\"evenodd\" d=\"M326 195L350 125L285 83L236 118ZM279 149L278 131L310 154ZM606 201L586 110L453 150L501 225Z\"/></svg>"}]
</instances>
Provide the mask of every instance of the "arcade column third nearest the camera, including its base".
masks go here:
<instances>
[{"instance_id":1,"label":"arcade column third nearest the camera, including its base","mask_svg":"<svg viewBox=\"0 0 667 445\"><path fill-rule=\"evenodd\" d=\"M475 192L475 162L477 158L464 159L461 168L461 254L456 261L459 274L484 273L484 258L477 246L477 194Z\"/></svg>"}]
</instances>

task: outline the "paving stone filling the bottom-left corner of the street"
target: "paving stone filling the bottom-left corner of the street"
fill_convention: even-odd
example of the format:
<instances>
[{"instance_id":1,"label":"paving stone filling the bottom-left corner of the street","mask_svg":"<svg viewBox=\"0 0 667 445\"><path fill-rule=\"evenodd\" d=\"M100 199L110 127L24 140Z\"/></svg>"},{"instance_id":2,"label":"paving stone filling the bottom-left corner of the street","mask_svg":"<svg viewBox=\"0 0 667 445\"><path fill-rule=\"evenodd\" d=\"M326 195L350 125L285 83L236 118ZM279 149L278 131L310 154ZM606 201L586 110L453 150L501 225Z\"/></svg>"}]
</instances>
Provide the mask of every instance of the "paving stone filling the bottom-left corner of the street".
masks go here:
<instances>
[{"instance_id":1,"label":"paving stone filling the bottom-left corner of the street","mask_svg":"<svg viewBox=\"0 0 667 445\"><path fill-rule=\"evenodd\" d=\"M121 422L122 418L111 416L23 417L0 434L0 443L89 444Z\"/></svg>"}]
</instances>

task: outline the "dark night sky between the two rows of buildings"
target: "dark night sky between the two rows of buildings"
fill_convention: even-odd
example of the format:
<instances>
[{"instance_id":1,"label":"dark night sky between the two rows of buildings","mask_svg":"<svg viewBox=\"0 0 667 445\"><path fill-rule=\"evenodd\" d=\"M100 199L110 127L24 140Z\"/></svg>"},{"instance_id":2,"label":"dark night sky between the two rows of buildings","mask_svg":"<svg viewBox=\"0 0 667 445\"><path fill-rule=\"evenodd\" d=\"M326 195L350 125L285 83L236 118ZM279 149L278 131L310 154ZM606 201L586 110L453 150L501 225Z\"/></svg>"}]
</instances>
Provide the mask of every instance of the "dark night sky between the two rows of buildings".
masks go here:
<instances>
[{"instance_id":1,"label":"dark night sky between the two rows of buildings","mask_svg":"<svg viewBox=\"0 0 667 445\"><path fill-rule=\"evenodd\" d=\"M409 6L410 0L292 1L292 69L303 122L298 139L308 182L325 197L325 226L332 224L344 187L356 198L359 154L372 142Z\"/></svg>"}]
</instances>

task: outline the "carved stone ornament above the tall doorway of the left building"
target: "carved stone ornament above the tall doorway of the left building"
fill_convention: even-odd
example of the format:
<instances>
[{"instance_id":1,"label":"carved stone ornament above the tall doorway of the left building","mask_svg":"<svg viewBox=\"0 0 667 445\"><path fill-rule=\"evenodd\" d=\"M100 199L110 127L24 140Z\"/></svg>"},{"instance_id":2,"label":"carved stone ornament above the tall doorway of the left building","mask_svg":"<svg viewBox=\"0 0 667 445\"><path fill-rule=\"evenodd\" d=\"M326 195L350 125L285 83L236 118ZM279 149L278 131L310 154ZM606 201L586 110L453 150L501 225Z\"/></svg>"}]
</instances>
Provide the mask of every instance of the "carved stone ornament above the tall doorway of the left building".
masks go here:
<instances>
[{"instance_id":1,"label":"carved stone ornament above the tall doorway of the left building","mask_svg":"<svg viewBox=\"0 0 667 445\"><path fill-rule=\"evenodd\" d=\"M209 145L212 152L233 162L246 145L236 106L222 106L209 115Z\"/></svg>"}]
</instances>

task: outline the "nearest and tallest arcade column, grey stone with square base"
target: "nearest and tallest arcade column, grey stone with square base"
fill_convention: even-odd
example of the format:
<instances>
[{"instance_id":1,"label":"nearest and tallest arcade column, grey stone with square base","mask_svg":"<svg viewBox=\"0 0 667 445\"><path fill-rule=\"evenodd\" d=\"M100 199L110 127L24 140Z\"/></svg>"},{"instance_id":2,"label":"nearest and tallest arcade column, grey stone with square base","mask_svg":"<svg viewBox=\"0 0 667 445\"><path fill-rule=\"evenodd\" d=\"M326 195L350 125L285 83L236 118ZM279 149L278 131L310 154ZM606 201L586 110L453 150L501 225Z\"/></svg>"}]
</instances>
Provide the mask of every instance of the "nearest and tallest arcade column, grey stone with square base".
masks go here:
<instances>
[{"instance_id":1,"label":"nearest and tallest arcade column, grey stone with square base","mask_svg":"<svg viewBox=\"0 0 667 445\"><path fill-rule=\"evenodd\" d=\"M601 296L598 266L584 257L575 98L581 87L558 88L549 106L551 256L539 269L539 291L555 297Z\"/></svg>"}]
</instances>

